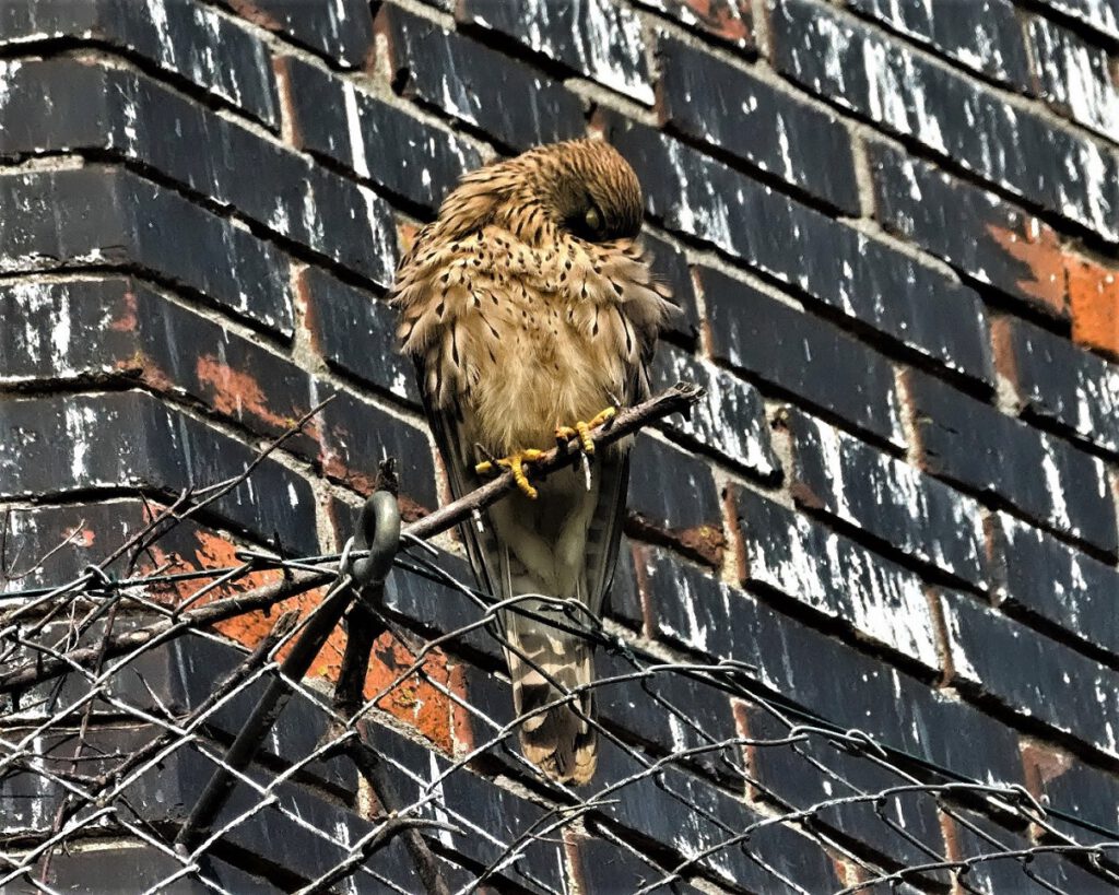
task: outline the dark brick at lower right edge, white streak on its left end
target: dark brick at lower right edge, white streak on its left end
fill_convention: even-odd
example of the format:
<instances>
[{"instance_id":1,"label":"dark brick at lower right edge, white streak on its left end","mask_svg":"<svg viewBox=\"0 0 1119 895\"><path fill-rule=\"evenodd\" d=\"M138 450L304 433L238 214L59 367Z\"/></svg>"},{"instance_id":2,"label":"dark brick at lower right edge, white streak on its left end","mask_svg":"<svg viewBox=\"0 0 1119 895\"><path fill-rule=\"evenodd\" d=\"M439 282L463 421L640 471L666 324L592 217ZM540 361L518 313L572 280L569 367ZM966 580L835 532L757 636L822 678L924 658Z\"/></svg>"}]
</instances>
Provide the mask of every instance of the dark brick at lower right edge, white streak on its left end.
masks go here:
<instances>
[{"instance_id":1,"label":"dark brick at lower right edge, white streak on its left end","mask_svg":"<svg viewBox=\"0 0 1119 895\"><path fill-rule=\"evenodd\" d=\"M980 606L941 596L949 650L961 686L1009 709L1119 755L1119 676L1068 647Z\"/></svg>"}]
</instances>

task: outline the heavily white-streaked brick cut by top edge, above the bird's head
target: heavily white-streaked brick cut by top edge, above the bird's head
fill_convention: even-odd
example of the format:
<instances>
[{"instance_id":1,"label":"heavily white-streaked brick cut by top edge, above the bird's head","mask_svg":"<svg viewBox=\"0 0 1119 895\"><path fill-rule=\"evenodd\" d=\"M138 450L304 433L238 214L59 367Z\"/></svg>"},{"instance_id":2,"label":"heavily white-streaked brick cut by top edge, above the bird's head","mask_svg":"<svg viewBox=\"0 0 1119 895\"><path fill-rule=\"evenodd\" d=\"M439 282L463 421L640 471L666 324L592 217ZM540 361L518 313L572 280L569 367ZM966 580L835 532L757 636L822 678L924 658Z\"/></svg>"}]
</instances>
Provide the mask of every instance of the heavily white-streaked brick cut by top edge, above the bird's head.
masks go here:
<instances>
[{"instance_id":1,"label":"heavily white-streaked brick cut by top edge, above the bird's head","mask_svg":"<svg viewBox=\"0 0 1119 895\"><path fill-rule=\"evenodd\" d=\"M652 103L641 21L626 7L609 0L530 0L519 4L461 0L455 17L508 35L534 53L631 100Z\"/></svg>"}]
</instances>

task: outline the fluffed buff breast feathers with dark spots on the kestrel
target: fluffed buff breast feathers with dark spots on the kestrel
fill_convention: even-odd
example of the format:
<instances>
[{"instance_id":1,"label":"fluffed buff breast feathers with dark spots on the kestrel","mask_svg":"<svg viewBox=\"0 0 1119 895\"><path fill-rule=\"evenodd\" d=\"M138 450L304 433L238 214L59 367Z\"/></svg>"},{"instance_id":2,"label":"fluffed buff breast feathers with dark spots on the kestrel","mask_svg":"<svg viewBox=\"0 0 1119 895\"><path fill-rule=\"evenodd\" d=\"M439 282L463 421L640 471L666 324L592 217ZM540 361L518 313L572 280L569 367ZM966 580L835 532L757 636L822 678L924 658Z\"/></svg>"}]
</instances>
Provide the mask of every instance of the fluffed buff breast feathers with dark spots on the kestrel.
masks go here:
<instances>
[{"instance_id":1,"label":"fluffed buff breast feathers with dark spots on the kestrel","mask_svg":"<svg viewBox=\"0 0 1119 895\"><path fill-rule=\"evenodd\" d=\"M458 401L498 454L546 447L556 425L629 397L667 307L630 241L535 248L489 227L406 273L404 349L436 405Z\"/></svg>"}]
</instances>

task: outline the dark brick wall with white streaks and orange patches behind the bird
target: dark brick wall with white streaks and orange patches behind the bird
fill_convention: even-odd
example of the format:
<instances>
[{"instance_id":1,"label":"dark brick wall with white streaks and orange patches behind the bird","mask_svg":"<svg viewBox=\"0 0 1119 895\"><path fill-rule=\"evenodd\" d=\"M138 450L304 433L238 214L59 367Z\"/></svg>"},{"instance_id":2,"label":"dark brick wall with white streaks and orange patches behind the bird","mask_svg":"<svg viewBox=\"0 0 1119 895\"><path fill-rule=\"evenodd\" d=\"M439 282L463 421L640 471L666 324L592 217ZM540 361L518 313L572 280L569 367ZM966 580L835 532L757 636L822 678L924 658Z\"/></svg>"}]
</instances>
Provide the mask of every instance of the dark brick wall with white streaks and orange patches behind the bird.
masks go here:
<instances>
[{"instance_id":1,"label":"dark brick wall with white streaks and orange patches behind the bird","mask_svg":"<svg viewBox=\"0 0 1119 895\"><path fill-rule=\"evenodd\" d=\"M750 663L758 693L1021 784L1096 825L1054 821L1078 841L1119 838L1115 0L40 0L0 6L0 48L8 590L102 559L331 394L137 568L225 566L245 545L335 550L386 453L405 515L435 508L439 462L382 301L399 246L464 171L601 134L641 178L647 242L684 309L657 379L707 389L690 421L638 439L611 630L665 661ZM439 544L464 575L454 540ZM388 604L414 639L378 642L367 694L470 621L452 591L402 572ZM269 624L220 632L252 644ZM313 676L337 675L342 643ZM113 698L195 705L237 656L201 637L144 653L98 696L101 748L140 736ZM618 661L600 651L599 673ZM491 736L486 718L508 720L500 669L491 640L452 639L382 704L375 742L405 790ZM48 717L39 695L8 706L3 736ZM223 709L215 742L250 697ZM634 754L775 735L749 699L685 676L613 685L600 710L628 746L604 746L603 785ZM297 699L262 767L310 754L323 724ZM836 780L890 781L834 743L724 757L619 789L488 885L633 891L683 864L681 891L822 892L1053 840L927 795L767 823ZM175 753L129 804L157 827L181 819L210 766ZM32 776L0 772L0 851L49 828L62 797ZM313 879L346 849L292 817L352 841L372 829L349 810L355 785L340 760L303 769L206 857L207 878ZM441 786L468 831L433 833L454 887L563 804L504 746ZM129 868L143 888L179 868L142 838L111 842L57 855L49 885ZM367 867L360 891L415 891L399 842ZM905 883L1112 891L1097 870L1046 855Z\"/></svg>"}]
</instances>

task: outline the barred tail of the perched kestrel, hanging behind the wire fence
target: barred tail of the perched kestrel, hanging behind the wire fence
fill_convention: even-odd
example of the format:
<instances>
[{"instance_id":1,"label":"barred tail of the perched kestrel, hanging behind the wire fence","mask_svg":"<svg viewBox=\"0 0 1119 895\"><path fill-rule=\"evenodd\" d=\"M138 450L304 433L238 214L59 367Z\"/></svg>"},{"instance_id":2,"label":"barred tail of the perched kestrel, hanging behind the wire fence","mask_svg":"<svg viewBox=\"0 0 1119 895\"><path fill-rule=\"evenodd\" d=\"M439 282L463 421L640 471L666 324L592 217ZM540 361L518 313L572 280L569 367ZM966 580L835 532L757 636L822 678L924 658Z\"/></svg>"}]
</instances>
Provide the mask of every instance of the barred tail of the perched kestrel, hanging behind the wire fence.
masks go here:
<instances>
[{"instance_id":1,"label":"barred tail of the perched kestrel, hanging behind the wire fence","mask_svg":"<svg viewBox=\"0 0 1119 895\"><path fill-rule=\"evenodd\" d=\"M582 690L565 703L539 709L594 679L592 647L579 634L540 621L557 615L573 625L554 606L537 600L525 600L520 606L533 616L507 613L506 633L516 651L507 649L506 656L514 709L517 717L529 716L520 724L521 752L553 780L587 783L599 760L598 735L587 720L594 717L593 693Z\"/></svg>"}]
</instances>

